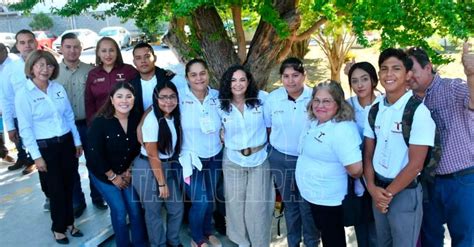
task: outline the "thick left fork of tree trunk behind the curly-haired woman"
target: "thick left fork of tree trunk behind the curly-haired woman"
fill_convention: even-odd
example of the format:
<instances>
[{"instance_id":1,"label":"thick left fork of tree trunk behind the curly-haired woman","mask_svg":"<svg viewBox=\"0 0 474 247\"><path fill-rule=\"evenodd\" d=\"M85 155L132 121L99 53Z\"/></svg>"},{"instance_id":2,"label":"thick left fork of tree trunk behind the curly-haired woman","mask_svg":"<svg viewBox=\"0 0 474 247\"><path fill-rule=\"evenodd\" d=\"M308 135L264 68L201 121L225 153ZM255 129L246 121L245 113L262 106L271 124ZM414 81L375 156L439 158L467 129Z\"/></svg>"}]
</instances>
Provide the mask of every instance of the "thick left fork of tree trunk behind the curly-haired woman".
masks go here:
<instances>
[{"instance_id":1,"label":"thick left fork of tree trunk behind the curly-haired woman","mask_svg":"<svg viewBox=\"0 0 474 247\"><path fill-rule=\"evenodd\" d=\"M211 76L219 80L228 67L240 62L221 17L215 7L199 7L192 13L192 22Z\"/></svg>"}]
</instances>

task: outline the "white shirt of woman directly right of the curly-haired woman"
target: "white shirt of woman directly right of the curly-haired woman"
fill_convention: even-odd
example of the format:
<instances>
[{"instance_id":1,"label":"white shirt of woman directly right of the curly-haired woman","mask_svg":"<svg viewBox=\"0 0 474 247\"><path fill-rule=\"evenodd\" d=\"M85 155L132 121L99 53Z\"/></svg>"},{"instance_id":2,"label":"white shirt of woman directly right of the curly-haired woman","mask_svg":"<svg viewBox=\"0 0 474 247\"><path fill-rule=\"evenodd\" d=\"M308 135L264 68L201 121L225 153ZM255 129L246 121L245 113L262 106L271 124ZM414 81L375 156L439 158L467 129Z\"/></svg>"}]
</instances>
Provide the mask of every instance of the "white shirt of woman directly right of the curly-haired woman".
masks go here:
<instances>
[{"instance_id":1,"label":"white shirt of woman directly right of the curly-haired woman","mask_svg":"<svg viewBox=\"0 0 474 247\"><path fill-rule=\"evenodd\" d=\"M288 99L284 87L271 92L264 105L265 125L272 128L270 144L279 152L298 156L298 140L309 121L307 106L311 101L311 88L304 86L303 93L295 100Z\"/></svg>"}]
</instances>

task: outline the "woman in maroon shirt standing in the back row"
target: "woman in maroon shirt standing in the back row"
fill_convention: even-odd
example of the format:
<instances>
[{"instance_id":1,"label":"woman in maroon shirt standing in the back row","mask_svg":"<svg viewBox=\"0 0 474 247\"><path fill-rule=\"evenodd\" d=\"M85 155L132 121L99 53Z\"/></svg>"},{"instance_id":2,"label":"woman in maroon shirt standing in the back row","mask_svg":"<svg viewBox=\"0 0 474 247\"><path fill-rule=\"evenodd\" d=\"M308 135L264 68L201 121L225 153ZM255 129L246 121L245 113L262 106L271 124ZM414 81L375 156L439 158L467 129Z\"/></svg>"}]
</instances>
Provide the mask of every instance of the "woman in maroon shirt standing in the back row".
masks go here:
<instances>
[{"instance_id":1,"label":"woman in maroon shirt standing in the back row","mask_svg":"<svg viewBox=\"0 0 474 247\"><path fill-rule=\"evenodd\" d=\"M119 82L129 82L138 72L130 64L125 64L120 48L110 37L103 37L95 49L97 66L89 72L86 81L86 118L90 123L99 108L105 103L113 86Z\"/></svg>"}]
</instances>

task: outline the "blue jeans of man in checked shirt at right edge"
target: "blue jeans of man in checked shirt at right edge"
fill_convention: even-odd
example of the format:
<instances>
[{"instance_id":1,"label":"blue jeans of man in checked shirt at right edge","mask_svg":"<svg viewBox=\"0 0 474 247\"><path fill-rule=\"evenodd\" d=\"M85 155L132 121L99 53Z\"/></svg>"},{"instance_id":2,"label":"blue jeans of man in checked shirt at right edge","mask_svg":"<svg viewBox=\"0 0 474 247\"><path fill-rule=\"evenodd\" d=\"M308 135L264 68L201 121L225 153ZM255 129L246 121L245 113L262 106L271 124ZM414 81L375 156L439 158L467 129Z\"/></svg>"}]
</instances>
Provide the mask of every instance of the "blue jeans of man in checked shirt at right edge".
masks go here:
<instances>
[{"instance_id":1,"label":"blue jeans of man in checked shirt at right edge","mask_svg":"<svg viewBox=\"0 0 474 247\"><path fill-rule=\"evenodd\" d=\"M423 204L422 245L443 246L443 224L447 223L452 246L474 246L474 174L436 177L428 189L430 198Z\"/></svg>"}]
</instances>

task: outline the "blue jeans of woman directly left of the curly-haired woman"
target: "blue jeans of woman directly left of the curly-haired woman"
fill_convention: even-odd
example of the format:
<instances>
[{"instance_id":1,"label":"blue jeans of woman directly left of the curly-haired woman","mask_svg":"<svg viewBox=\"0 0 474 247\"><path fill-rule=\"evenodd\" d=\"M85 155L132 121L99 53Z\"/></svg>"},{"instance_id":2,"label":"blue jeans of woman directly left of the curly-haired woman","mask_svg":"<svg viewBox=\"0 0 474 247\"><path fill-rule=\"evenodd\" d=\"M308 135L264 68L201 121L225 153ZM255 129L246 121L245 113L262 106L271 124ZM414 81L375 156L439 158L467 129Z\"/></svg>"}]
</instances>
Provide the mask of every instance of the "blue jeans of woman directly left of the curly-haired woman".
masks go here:
<instances>
[{"instance_id":1,"label":"blue jeans of woman directly left of the curly-haired woman","mask_svg":"<svg viewBox=\"0 0 474 247\"><path fill-rule=\"evenodd\" d=\"M214 200L219 171L222 170L222 151L211 158L200 158L202 170L193 170L191 183L185 184L186 195L191 200L188 221L191 230L191 238L196 243L206 240L206 236L212 235L212 213L214 211ZM180 175L182 177L182 175Z\"/></svg>"}]
</instances>

